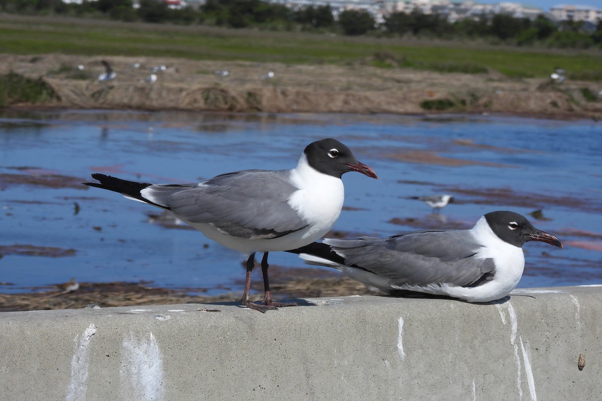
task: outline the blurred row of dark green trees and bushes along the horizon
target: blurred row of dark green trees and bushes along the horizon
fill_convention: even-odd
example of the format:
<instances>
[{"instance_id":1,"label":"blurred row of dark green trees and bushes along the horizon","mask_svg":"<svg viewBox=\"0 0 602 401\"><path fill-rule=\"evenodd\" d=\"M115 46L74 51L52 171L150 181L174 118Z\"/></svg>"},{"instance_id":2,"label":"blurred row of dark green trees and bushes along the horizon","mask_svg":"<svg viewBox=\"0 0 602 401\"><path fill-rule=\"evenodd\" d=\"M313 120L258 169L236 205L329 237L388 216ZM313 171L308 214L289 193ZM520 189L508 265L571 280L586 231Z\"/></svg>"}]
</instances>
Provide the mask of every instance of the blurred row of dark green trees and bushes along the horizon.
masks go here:
<instances>
[{"instance_id":1,"label":"blurred row of dark green trees and bushes along the horizon","mask_svg":"<svg viewBox=\"0 0 602 401\"><path fill-rule=\"evenodd\" d=\"M310 31L324 34L372 37L437 38L441 40L486 40L490 44L524 47L602 49L602 20L594 31L582 22L555 22L543 14L535 20L507 14L480 16L449 22L438 14L392 13L377 24L366 11L343 11L338 19L329 5L292 10L260 0L207 0L200 7L173 10L160 0L85 1L65 4L62 0L0 0L0 11L10 14L111 19L124 22L257 28L270 31Z\"/></svg>"}]
</instances>

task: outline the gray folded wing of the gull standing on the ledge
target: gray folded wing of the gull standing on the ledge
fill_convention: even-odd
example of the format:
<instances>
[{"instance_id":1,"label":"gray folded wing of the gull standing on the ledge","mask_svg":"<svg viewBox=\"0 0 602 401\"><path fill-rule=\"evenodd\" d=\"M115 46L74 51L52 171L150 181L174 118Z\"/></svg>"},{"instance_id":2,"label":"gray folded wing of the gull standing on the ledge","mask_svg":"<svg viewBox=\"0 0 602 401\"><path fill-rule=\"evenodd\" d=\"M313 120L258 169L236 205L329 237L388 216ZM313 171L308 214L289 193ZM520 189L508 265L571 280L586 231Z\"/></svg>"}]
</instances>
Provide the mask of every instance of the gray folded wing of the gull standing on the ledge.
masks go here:
<instances>
[{"instance_id":1,"label":"gray folded wing of the gull standing on the ledge","mask_svg":"<svg viewBox=\"0 0 602 401\"><path fill-rule=\"evenodd\" d=\"M245 170L198 184L152 185L143 196L192 223L244 238L274 238L308 225L287 203L290 170Z\"/></svg>"}]
</instances>

